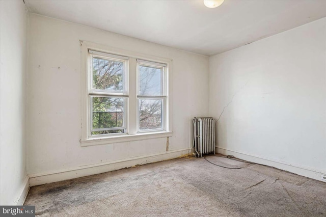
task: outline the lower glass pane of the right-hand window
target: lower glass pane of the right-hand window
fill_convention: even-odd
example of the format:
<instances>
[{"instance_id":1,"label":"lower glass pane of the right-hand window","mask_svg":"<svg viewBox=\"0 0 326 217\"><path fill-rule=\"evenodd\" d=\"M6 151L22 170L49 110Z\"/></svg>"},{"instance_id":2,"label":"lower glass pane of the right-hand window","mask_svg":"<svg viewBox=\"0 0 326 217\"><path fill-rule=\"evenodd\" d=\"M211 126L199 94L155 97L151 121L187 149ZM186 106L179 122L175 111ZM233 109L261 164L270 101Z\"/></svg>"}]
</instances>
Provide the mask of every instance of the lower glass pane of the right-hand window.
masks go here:
<instances>
[{"instance_id":1,"label":"lower glass pane of the right-hand window","mask_svg":"<svg viewBox=\"0 0 326 217\"><path fill-rule=\"evenodd\" d=\"M162 100L139 99L139 129L162 128Z\"/></svg>"}]
</instances>

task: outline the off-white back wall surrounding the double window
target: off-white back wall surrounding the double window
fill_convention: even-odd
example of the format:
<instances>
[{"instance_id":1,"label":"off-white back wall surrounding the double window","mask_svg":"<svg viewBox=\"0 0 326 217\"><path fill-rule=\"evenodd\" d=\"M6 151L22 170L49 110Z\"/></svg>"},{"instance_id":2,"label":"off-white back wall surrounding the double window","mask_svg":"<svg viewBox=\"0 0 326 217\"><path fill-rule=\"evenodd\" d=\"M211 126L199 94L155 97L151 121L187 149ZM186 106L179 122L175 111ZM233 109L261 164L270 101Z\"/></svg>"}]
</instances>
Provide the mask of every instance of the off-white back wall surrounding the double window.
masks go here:
<instances>
[{"instance_id":1,"label":"off-white back wall surrounding the double window","mask_svg":"<svg viewBox=\"0 0 326 217\"><path fill-rule=\"evenodd\" d=\"M79 40L173 59L173 137L169 150L191 147L191 119L207 116L209 111L208 57L35 14L30 14L29 23L29 175L38 177L166 152L166 138L80 147Z\"/></svg>"}]
</instances>

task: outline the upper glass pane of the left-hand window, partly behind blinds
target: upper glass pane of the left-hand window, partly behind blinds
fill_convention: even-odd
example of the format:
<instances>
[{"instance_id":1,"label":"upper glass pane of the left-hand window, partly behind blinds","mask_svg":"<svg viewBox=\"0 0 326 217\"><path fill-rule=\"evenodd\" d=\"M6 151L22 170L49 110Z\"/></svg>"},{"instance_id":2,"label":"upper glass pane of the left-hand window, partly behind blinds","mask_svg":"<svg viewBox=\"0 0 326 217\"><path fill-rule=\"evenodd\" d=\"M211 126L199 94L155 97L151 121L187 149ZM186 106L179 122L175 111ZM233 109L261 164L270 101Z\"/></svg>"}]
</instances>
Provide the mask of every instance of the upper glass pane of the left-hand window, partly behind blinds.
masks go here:
<instances>
[{"instance_id":1,"label":"upper glass pane of the left-hand window, partly behind blinds","mask_svg":"<svg viewBox=\"0 0 326 217\"><path fill-rule=\"evenodd\" d=\"M98 90L125 91L125 62L93 57L93 84Z\"/></svg>"}]
</instances>

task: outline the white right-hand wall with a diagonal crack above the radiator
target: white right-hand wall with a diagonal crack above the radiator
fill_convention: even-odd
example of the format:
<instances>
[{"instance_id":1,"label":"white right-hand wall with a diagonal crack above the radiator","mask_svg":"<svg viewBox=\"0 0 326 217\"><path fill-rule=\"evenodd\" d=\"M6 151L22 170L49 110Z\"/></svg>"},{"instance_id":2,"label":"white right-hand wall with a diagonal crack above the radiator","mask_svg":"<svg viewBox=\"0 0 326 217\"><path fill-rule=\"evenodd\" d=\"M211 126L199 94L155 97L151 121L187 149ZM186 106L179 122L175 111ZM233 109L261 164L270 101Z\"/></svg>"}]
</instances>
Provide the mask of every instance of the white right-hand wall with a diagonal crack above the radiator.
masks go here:
<instances>
[{"instance_id":1,"label":"white right-hand wall with a diagonal crack above the radiator","mask_svg":"<svg viewBox=\"0 0 326 217\"><path fill-rule=\"evenodd\" d=\"M219 152L320 180L326 18L211 57L210 115Z\"/></svg>"}]
</instances>

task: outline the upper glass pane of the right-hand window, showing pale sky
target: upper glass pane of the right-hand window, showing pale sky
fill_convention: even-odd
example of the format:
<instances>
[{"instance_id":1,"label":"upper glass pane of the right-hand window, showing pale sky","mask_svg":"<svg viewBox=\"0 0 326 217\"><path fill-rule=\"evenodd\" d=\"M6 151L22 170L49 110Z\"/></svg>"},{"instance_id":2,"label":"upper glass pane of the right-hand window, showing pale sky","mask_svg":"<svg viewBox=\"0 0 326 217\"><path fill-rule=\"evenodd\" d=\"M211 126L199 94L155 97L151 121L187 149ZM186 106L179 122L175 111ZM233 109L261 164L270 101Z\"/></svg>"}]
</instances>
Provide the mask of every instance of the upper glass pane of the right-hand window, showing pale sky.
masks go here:
<instances>
[{"instance_id":1,"label":"upper glass pane of the right-hand window, showing pale sky","mask_svg":"<svg viewBox=\"0 0 326 217\"><path fill-rule=\"evenodd\" d=\"M138 95L164 95L164 67L139 65Z\"/></svg>"}]
</instances>

